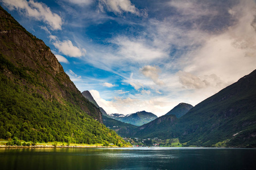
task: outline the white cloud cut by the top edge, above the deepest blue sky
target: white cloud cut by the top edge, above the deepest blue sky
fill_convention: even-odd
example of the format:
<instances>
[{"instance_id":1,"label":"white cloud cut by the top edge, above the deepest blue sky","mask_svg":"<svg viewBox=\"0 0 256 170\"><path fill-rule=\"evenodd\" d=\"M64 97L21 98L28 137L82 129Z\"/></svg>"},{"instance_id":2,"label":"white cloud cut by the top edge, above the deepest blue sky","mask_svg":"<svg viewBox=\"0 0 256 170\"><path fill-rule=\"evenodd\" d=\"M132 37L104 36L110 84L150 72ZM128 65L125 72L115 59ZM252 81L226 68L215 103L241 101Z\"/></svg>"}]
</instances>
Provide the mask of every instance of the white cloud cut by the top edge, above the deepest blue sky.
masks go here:
<instances>
[{"instance_id":1,"label":"white cloud cut by the top edge, above the deepest blue sky","mask_svg":"<svg viewBox=\"0 0 256 170\"><path fill-rule=\"evenodd\" d=\"M131 3L130 0L100 0L99 7L101 10L106 7L108 11L114 12L115 14L131 12L135 15L141 15L139 10Z\"/></svg>"}]
</instances>

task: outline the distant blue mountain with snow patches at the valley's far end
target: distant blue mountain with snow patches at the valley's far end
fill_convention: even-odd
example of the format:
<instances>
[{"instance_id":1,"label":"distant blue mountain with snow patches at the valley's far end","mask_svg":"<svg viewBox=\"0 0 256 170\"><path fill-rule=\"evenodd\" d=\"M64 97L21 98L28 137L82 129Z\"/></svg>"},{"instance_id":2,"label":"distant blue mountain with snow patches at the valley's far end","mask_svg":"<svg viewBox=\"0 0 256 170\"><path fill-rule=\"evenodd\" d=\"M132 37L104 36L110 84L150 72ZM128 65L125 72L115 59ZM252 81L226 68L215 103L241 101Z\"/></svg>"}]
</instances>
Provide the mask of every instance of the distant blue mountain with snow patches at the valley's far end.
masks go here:
<instances>
[{"instance_id":1,"label":"distant blue mountain with snow patches at the valley's far end","mask_svg":"<svg viewBox=\"0 0 256 170\"><path fill-rule=\"evenodd\" d=\"M110 114L109 116L114 118L115 120L119 120L121 122L125 122L127 124L132 124L135 126L147 124L148 122L151 122L152 120L158 118L155 114L146 111L141 111L127 115L114 113Z\"/></svg>"}]
</instances>

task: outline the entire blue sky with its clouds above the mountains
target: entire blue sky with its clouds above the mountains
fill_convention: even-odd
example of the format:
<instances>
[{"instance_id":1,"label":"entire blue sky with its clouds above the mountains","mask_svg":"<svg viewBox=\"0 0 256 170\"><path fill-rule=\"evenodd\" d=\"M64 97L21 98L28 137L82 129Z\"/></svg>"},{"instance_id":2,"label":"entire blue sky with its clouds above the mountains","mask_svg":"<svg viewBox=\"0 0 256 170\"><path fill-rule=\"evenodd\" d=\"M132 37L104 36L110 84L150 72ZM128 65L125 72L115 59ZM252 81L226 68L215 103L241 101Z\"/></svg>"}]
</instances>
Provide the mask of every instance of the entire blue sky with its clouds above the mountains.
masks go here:
<instances>
[{"instance_id":1,"label":"entire blue sky with its clouds above the mountains","mask_svg":"<svg viewBox=\"0 0 256 170\"><path fill-rule=\"evenodd\" d=\"M161 116L256 69L255 1L0 2L109 114Z\"/></svg>"}]
</instances>

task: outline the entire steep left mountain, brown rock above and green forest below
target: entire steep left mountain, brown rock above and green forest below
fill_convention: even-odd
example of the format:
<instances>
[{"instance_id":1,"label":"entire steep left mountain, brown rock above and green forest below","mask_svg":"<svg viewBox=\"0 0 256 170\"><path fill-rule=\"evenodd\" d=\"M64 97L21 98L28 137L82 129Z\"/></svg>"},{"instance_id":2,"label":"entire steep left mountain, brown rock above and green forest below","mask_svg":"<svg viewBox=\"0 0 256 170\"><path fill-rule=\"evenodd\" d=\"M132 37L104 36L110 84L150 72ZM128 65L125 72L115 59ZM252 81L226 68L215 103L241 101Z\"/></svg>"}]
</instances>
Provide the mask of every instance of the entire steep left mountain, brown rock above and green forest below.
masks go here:
<instances>
[{"instance_id":1,"label":"entire steep left mountain, brown rock above and green forest below","mask_svg":"<svg viewBox=\"0 0 256 170\"><path fill-rule=\"evenodd\" d=\"M0 6L0 138L124 143L42 40Z\"/></svg>"}]
</instances>

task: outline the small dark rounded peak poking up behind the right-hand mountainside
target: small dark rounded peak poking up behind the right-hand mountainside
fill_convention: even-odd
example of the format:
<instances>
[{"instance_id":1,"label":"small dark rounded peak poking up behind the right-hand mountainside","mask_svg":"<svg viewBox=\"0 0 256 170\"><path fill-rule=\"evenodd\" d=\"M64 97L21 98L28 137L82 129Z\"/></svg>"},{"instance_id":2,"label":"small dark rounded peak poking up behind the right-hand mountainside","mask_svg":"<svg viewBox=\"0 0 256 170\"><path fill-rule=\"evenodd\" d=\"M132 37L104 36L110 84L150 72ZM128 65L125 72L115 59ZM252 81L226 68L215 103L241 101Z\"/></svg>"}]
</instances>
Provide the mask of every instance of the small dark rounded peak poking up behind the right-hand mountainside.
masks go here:
<instances>
[{"instance_id":1,"label":"small dark rounded peak poking up behind the right-hand mountainside","mask_svg":"<svg viewBox=\"0 0 256 170\"><path fill-rule=\"evenodd\" d=\"M166 113L166 115L173 114L173 115L175 115L177 118L180 118L181 116L183 116L184 114L186 114L191 108L193 108L193 106L192 106L191 104L180 103L180 104L176 105L176 107L174 107L173 109L171 109L171 111L169 111L168 113Z\"/></svg>"}]
</instances>

